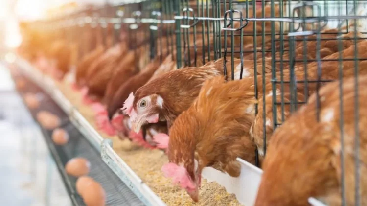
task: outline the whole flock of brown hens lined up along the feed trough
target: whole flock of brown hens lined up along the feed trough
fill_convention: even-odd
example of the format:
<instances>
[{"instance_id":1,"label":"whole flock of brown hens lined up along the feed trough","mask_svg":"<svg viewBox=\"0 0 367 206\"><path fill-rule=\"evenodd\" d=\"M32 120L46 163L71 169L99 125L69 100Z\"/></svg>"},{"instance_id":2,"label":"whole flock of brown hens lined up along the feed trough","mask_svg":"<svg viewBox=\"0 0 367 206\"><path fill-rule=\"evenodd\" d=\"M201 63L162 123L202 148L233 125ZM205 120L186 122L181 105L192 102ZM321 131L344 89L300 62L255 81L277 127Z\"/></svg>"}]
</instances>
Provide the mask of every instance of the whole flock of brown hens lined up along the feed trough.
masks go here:
<instances>
[{"instance_id":1,"label":"whole flock of brown hens lined up along the feed trough","mask_svg":"<svg viewBox=\"0 0 367 206\"><path fill-rule=\"evenodd\" d=\"M270 15L269 11L267 6L266 15ZM261 9L256 13L261 16ZM258 23L257 32L260 33L261 22ZM70 65L74 64L72 45L27 29L19 53L38 69L63 79ZM253 23L249 22L244 33L253 32ZM325 28L320 34L321 38L328 39L320 41L320 58L325 61L308 62L307 65L296 61L297 88L278 84L273 90L271 71L276 69L278 80L289 81L290 52L294 53L296 60L304 58L304 51L308 59L316 59L317 35L308 36L306 44L296 41L294 51L275 53L276 58L282 55L284 59L282 71L278 63L275 68L271 67L271 52L265 52L265 61L262 53L244 53L243 64L239 54L235 54L233 61L230 56L213 61L207 61L207 57L194 58L194 55L207 53L203 50L207 46L203 46L200 32L196 34L196 50L188 49L191 51L189 59L195 67L185 68L177 68L175 46L161 45L156 57L144 64L149 55L146 49L149 43L144 42L143 35L136 35L140 42L136 50L129 49L129 38L124 33L114 46L109 40L111 36L107 37L107 44L102 44L99 35L94 49L75 63L75 82L71 86L80 90L85 104L92 106L100 130L129 138L149 149L165 150L169 163L162 167L162 172L196 202L199 201L198 188L204 167L238 177L241 166L236 158L255 164L254 151L257 148L264 172L256 206L307 206L309 197L320 198L330 206L341 205L342 155L346 202L355 205L355 164L361 174L367 172L367 150L364 147L367 130L363 126L367 123L367 116L364 116L367 114L367 101L364 101L367 90L363 90L367 87L367 60L354 61L354 57L367 58L367 41L362 38L362 33L354 30L345 32L341 36L343 39L338 41L337 32ZM354 40L354 36L359 39ZM163 43L166 38L161 37ZM235 41L239 42L236 38ZM284 36L285 40L287 38ZM213 38L209 41L211 46ZM222 41L231 43L230 38ZM257 41L261 46L262 39L259 37ZM265 49L271 50L270 37L266 36L264 42ZM246 36L245 51L253 50L251 43L253 37ZM280 46L277 41L274 47L279 50ZM285 50L289 49L288 41L284 46ZM341 52L339 48L342 48ZM187 51L185 55L188 56ZM338 58L349 61L344 60L341 64L333 61ZM256 61L257 73L254 72ZM263 75L264 62L266 74ZM320 85L315 83L318 75L322 80L338 80L342 75L343 84L325 82L319 89ZM255 78L258 99L255 98ZM282 113L285 121L273 131L273 98L280 102L283 93L287 102L291 99L291 92L297 92L298 100L307 103L292 114L290 105L283 108L279 105L277 122L282 122ZM258 104L257 114L255 104ZM266 105L266 114L263 114L263 105ZM358 113L355 113L356 108ZM267 151L263 149L263 133L267 135ZM341 137L344 144L341 144ZM359 148L356 148L356 140ZM358 160L355 151L359 151ZM367 205L366 175L359 178L359 187L361 205Z\"/></svg>"}]
</instances>

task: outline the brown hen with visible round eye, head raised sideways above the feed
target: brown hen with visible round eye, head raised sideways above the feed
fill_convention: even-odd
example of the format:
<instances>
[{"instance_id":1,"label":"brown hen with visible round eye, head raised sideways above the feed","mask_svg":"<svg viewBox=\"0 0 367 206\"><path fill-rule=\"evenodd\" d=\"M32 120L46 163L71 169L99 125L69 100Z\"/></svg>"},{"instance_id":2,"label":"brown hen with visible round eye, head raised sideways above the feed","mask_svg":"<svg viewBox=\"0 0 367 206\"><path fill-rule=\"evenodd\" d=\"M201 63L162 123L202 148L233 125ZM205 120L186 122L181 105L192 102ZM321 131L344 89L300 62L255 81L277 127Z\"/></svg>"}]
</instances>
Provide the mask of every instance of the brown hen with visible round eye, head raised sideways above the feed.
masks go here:
<instances>
[{"instance_id":1,"label":"brown hen with visible round eye, head raised sideways above the feed","mask_svg":"<svg viewBox=\"0 0 367 206\"><path fill-rule=\"evenodd\" d=\"M222 61L222 62L220 62ZM235 60L239 62L239 60ZM209 62L199 68L176 69L164 73L139 88L135 95L126 100L124 109L131 116L133 128L139 131L146 123L166 121L168 128L176 117L184 112L200 92L204 81L223 75L223 58ZM231 75L231 65L227 62L227 77ZM235 79L240 77L240 67L234 70ZM243 77L253 75L244 72ZM130 114L132 113L132 114Z\"/></svg>"}]
</instances>

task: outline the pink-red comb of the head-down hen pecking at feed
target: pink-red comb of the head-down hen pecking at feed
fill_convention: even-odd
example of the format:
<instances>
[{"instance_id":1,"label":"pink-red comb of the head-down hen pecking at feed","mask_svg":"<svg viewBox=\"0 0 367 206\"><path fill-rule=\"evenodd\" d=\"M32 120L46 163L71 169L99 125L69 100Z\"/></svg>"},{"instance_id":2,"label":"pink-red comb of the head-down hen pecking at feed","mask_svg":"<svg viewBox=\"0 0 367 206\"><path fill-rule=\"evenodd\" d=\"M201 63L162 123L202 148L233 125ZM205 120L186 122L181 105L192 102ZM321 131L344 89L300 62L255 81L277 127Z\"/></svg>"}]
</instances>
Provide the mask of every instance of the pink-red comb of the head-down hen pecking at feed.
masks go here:
<instances>
[{"instance_id":1,"label":"pink-red comb of the head-down hen pecking at feed","mask_svg":"<svg viewBox=\"0 0 367 206\"><path fill-rule=\"evenodd\" d=\"M174 184L179 183L182 188L195 189L196 185L191 180L186 168L175 163L167 163L162 166L161 171L166 178L172 178Z\"/></svg>"}]
</instances>

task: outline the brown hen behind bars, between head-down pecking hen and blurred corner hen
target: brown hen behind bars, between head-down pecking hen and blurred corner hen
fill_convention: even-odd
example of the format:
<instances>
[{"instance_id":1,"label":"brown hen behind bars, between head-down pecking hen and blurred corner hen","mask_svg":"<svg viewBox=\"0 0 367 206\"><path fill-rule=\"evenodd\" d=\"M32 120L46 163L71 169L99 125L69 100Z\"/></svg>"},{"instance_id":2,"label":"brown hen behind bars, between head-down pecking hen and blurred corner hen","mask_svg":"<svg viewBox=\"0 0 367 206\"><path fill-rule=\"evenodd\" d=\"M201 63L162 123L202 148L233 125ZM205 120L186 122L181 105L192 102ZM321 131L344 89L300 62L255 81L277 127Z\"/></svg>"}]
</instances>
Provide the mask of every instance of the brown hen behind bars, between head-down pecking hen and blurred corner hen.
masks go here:
<instances>
[{"instance_id":1,"label":"brown hen behind bars, between head-down pecking hen and blurred corner hen","mask_svg":"<svg viewBox=\"0 0 367 206\"><path fill-rule=\"evenodd\" d=\"M342 59L353 59L354 58L354 48L355 46L350 46L349 48L345 49L341 52ZM357 44L357 50L358 50L358 57L365 59L367 58L367 41L361 42ZM339 58L339 52L334 53L332 55L329 55L325 57L324 59L338 59ZM367 61L357 61L358 65L358 71L360 74L367 74ZM354 61L342 61L341 66L343 69L343 77L351 77L354 75ZM307 69L307 81L316 81L318 79L317 76L317 70L318 65L316 62L310 63L308 65ZM339 78L339 62L338 61L324 61L321 62L321 80L336 80ZM286 70L283 72L283 80L288 81L289 80L289 70ZM296 79L298 81L304 80L304 70L303 67L296 68L295 71ZM280 79L280 75L278 74L277 79ZM260 98L259 100L259 108L258 108L258 114L256 115L256 118L253 122L253 125L251 127L250 134L253 137L258 149L260 155L263 155L265 151L263 151L264 147L264 141L263 141L263 127L265 122L265 131L266 131L266 137L267 137L267 144L270 140L270 137L274 131L274 119L273 119L273 92L271 90L272 83L270 81L270 76L266 77L266 91L267 94L265 97ZM281 84L276 85L276 102L281 103L282 102L282 96L280 95L283 93L283 102L289 103L291 98L290 93L290 86L289 84L284 84L284 90L282 91ZM307 89L307 90L306 90ZM305 88L304 83L298 83L297 84L297 96L298 96L298 102L306 102L306 99L309 95L311 95L313 92L315 92L317 89L316 83L308 83L307 88ZM260 90L262 92L262 90ZM307 93L306 93L307 92ZM295 94L293 94L295 95ZM259 94L261 96L261 94ZM264 121L264 113L263 113L263 98L265 98L265 121ZM299 104L299 103L298 103ZM300 105L299 105L300 106ZM298 107L299 107L298 106ZM283 115L284 114L284 115ZM290 105L286 104L280 104L277 105L276 110L276 117L277 122L276 123L282 123L283 120L287 119L287 117L291 114L291 107Z\"/></svg>"}]
</instances>

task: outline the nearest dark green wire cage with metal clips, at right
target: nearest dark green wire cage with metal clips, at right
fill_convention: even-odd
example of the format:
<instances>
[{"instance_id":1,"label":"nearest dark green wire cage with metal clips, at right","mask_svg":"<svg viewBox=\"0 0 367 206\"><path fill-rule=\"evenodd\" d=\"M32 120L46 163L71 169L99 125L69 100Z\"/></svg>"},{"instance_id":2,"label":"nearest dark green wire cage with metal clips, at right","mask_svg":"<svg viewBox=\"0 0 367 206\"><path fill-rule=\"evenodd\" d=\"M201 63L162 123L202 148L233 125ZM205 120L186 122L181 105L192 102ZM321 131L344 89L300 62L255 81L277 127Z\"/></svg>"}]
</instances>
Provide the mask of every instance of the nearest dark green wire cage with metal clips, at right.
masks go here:
<instances>
[{"instance_id":1,"label":"nearest dark green wire cage with metal clips, at right","mask_svg":"<svg viewBox=\"0 0 367 206\"><path fill-rule=\"evenodd\" d=\"M366 56L359 52L367 37L364 1L175 0L174 4L179 68L199 67L223 58L224 73L230 67L231 79L237 66L241 68L240 78L245 68L253 69L258 103L250 135L257 139L257 145L263 145L258 146L256 155L265 156L273 131L307 103L313 93L317 94L315 109L320 119L323 100L318 91L322 86L338 80L342 91L343 79L357 79L365 73ZM240 59L239 65L234 63L235 58ZM355 98L358 108L358 95ZM356 122L357 113L356 109ZM358 138L356 135L356 159L359 159ZM342 148L343 141L342 137ZM341 158L341 193L345 205L343 152ZM355 164L356 168L360 164ZM357 182L360 170L355 171ZM355 191L359 194L357 183ZM359 195L355 196L355 204L361 204Z\"/></svg>"}]
</instances>

